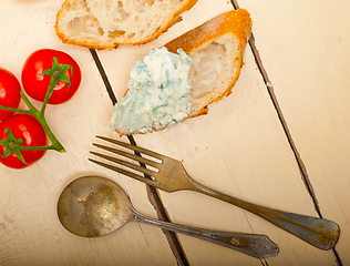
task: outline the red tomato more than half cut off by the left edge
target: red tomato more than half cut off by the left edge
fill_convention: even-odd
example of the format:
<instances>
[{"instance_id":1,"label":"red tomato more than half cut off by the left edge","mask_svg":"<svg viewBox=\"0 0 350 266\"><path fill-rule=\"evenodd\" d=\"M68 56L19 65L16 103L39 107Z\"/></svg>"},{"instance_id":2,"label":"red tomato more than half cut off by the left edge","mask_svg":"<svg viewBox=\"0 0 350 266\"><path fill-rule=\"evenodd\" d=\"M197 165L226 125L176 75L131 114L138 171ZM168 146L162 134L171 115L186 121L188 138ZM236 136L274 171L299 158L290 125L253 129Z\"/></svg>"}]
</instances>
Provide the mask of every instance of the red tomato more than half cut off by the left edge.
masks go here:
<instances>
[{"instance_id":1,"label":"red tomato more than half cut off by the left edge","mask_svg":"<svg viewBox=\"0 0 350 266\"><path fill-rule=\"evenodd\" d=\"M0 68L0 104L17 109L21 101L21 85L9 71ZM0 110L0 121L11 116L13 112Z\"/></svg>"}]
</instances>

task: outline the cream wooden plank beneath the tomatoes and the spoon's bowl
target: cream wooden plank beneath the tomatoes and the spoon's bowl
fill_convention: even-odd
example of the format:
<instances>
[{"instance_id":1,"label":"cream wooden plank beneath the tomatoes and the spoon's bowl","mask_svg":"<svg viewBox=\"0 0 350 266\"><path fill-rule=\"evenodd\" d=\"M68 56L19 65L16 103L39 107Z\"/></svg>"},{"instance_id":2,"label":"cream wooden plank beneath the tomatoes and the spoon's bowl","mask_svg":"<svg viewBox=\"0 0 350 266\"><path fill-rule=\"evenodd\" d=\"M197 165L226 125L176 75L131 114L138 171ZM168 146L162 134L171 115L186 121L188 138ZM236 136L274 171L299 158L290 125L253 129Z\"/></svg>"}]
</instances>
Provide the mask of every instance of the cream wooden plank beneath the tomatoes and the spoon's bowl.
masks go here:
<instances>
[{"instance_id":1,"label":"cream wooden plank beneath the tomatoes and the spoon's bowl","mask_svg":"<svg viewBox=\"0 0 350 266\"><path fill-rule=\"evenodd\" d=\"M87 239L69 233L58 219L61 191L90 174L116 181L133 201L137 197L140 212L155 216L144 185L131 185L87 161L95 134L112 135L107 125L112 104L90 51L62 44L55 37L55 13L62 2L0 2L1 68L20 79L31 52L52 48L75 58L83 73L81 88L70 102L47 109L48 123L66 153L50 151L21 171L0 165L0 265L177 265L158 228L134 223L110 236Z\"/></svg>"}]
</instances>

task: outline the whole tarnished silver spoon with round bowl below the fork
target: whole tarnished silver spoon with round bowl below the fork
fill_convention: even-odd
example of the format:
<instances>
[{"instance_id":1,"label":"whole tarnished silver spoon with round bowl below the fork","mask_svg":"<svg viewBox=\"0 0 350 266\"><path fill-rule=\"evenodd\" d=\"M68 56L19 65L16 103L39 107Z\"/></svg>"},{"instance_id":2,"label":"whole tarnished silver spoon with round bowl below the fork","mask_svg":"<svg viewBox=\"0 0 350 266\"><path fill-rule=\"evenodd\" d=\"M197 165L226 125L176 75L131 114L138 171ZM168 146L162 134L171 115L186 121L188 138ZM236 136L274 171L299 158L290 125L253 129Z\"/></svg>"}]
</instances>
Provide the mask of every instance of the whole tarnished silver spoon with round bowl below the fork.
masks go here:
<instances>
[{"instance_id":1,"label":"whole tarnished silver spoon with round bowl below the fork","mask_svg":"<svg viewBox=\"0 0 350 266\"><path fill-rule=\"evenodd\" d=\"M128 222L141 222L226 246L256 258L276 256L278 246L266 235L216 232L146 217L136 212L121 186L99 176L71 182L58 203L62 225L79 236L109 235Z\"/></svg>"}]
</instances>

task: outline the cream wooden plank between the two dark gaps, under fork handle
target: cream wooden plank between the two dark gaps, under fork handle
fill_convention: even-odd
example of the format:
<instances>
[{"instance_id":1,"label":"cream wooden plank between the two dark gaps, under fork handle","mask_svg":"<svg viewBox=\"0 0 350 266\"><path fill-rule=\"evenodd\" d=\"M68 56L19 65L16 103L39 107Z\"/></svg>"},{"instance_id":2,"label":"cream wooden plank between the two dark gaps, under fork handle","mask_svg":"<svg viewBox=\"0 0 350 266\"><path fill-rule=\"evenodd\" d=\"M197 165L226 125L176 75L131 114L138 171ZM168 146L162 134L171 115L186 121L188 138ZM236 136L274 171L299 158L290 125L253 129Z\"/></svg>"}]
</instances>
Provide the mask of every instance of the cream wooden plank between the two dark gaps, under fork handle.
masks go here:
<instances>
[{"instance_id":1,"label":"cream wooden plank between the two dark gaps, under fork handle","mask_svg":"<svg viewBox=\"0 0 350 266\"><path fill-rule=\"evenodd\" d=\"M199 0L184 16L183 22L158 40L143 47L121 47L115 51L99 52L117 98L126 91L130 69L152 48L161 47L230 9L227 1ZM269 55L274 57L274 53ZM246 65L233 94L210 106L208 115L163 132L137 135L135 140L141 146L182 160L194 178L213 188L269 207L317 216L249 49L245 58ZM317 249L236 207L193 192L161 194L173 222L268 234L281 249L278 256L266 259L269 265L336 265L331 250ZM183 236L179 238L193 265L227 265L231 262L237 265L261 264L255 258L208 243Z\"/></svg>"}]
</instances>

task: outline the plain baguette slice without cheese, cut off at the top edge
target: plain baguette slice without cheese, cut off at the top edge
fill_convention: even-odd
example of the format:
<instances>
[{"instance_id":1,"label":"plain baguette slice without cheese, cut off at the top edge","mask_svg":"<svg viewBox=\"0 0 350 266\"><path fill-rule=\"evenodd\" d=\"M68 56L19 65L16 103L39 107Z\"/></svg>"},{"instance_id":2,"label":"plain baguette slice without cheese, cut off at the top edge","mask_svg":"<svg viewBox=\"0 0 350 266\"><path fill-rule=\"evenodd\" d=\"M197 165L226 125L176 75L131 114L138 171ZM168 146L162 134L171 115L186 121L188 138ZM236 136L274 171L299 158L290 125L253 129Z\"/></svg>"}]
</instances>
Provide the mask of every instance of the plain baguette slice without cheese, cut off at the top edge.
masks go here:
<instances>
[{"instance_id":1,"label":"plain baguette slice without cheese, cut off at the top edge","mask_svg":"<svg viewBox=\"0 0 350 266\"><path fill-rule=\"evenodd\" d=\"M65 0L55 32L68 44L112 49L153 41L197 0Z\"/></svg>"}]
</instances>

